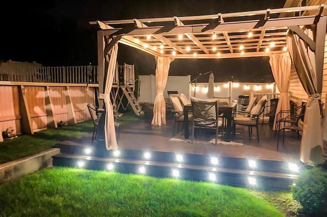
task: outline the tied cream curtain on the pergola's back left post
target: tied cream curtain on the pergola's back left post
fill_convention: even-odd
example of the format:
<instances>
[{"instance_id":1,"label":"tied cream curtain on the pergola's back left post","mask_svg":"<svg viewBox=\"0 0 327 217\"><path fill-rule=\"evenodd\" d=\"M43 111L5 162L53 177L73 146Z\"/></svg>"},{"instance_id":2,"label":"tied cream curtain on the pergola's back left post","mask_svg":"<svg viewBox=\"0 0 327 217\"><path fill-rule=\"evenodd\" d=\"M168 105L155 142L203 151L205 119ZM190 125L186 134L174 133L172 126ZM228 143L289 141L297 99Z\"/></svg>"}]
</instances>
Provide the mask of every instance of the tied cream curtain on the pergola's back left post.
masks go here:
<instances>
[{"instance_id":1,"label":"tied cream curtain on the pergola's back left post","mask_svg":"<svg viewBox=\"0 0 327 217\"><path fill-rule=\"evenodd\" d=\"M156 58L157 68L155 70L155 82L157 95L154 99L153 119L151 123L155 126L166 125L166 102L164 98L164 91L167 84L170 63L173 61L174 59L170 58Z\"/></svg>"}]
</instances>

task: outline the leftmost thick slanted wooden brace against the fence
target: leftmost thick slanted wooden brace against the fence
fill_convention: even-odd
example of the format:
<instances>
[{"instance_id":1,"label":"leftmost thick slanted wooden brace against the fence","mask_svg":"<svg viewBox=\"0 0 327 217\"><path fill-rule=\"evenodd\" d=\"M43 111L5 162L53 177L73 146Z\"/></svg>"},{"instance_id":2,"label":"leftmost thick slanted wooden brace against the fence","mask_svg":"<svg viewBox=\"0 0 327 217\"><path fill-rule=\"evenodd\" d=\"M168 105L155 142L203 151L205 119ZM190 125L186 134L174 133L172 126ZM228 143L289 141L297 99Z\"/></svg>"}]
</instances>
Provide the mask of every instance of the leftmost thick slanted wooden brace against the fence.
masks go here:
<instances>
[{"instance_id":1,"label":"leftmost thick slanted wooden brace against the fence","mask_svg":"<svg viewBox=\"0 0 327 217\"><path fill-rule=\"evenodd\" d=\"M22 85L18 87L18 99L19 113L21 117L21 131L26 134L34 134L30 110L25 96L25 88Z\"/></svg>"}]
</instances>

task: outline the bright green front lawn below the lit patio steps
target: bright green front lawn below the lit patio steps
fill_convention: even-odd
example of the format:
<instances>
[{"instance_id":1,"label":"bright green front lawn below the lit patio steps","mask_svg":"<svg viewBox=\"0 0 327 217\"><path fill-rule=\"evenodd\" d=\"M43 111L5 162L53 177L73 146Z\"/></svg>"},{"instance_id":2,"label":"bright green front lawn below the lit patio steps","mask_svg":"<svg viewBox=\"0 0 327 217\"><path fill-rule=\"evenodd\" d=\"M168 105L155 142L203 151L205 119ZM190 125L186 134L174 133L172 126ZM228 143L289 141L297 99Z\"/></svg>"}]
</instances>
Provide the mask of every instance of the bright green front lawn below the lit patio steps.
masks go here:
<instances>
[{"instance_id":1,"label":"bright green front lawn below the lit patio steps","mask_svg":"<svg viewBox=\"0 0 327 217\"><path fill-rule=\"evenodd\" d=\"M0 185L1 216L285 216L251 190L51 168Z\"/></svg>"}]
</instances>

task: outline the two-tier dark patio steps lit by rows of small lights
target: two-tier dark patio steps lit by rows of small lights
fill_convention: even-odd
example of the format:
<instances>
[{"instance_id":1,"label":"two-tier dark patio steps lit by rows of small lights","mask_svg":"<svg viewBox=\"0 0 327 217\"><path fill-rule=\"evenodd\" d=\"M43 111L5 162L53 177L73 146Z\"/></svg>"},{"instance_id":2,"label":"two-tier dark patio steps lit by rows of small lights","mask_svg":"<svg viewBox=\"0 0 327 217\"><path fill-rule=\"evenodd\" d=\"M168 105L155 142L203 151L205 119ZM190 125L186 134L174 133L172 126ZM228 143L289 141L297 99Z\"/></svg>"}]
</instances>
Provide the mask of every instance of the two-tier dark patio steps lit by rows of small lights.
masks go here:
<instances>
[{"instance_id":1,"label":"two-tier dark patio steps lit by rows of small lights","mask_svg":"<svg viewBox=\"0 0 327 217\"><path fill-rule=\"evenodd\" d=\"M112 169L108 169L110 165L116 172L135 174L142 173L139 170L144 167L144 173L154 177L173 177L172 171L176 170L179 179L214 181L208 178L212 176L220 184L274 190L290 189L298 177L296 172L289 170L287 162L277 160L257 159L256 167L251 168L248 159L241 157L220 156L218 164L214 165L210 156L202 154L183 154L183 160L177 161L176 153L172 152L151 151L146 159L145 150L122 149L115 155L118 152L80 141L63 141L55 147L60 148L61 153L53 156L54 166L109 170Z\"/></svg>"}]
</instances>

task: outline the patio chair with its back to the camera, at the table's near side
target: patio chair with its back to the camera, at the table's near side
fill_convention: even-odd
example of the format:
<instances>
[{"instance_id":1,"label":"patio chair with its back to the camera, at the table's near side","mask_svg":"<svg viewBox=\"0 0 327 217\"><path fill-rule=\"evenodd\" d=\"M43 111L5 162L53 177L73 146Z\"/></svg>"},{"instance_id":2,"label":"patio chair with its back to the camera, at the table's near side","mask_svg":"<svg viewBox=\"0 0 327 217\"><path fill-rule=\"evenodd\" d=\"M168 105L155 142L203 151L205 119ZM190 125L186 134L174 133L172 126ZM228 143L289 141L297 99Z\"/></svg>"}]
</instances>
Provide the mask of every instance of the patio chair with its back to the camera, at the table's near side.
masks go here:
<instances>
[{"instance_id":1,"label":"patio chair with its back to the camera, at the table's near side","mask_svg":"<svg viewBox=\"0 0 327 217\"><path fill-rule=\"evenodd\" d=\"M196 129L215 129L215 145L217 145L218 129L222 128L222 134L224 133L223 121L219 116L219 104L218 100L199 100L191 97L192 111L193 111L193 130L192 141L194 140L194 134Z\"/></svg>"}]
</instances>

